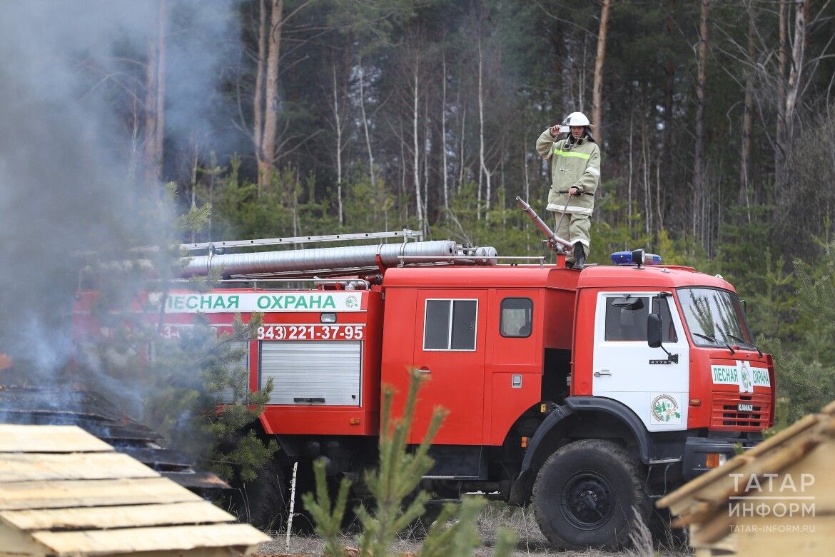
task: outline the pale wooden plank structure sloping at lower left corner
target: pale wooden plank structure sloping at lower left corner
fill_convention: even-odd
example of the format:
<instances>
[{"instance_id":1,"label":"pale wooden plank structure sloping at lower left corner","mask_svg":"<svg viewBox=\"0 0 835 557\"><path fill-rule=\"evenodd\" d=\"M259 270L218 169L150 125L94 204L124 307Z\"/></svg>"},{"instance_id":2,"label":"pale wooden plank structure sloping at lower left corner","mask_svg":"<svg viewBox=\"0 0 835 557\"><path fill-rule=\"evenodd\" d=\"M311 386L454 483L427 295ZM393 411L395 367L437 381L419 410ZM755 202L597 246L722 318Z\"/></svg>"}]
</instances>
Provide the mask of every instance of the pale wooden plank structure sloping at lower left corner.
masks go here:
<instances>
[{"instance_id":1,"label":"pale wooden plank structure sloping at lower left corner","mask_svg":"<svg viewBox=\"0 0 835 557\"><path fill-rule=\"evenodd\" d=\"M269 538L76 426L0 424L0 557L252 554Z\"/></svg>"}]
</instances>

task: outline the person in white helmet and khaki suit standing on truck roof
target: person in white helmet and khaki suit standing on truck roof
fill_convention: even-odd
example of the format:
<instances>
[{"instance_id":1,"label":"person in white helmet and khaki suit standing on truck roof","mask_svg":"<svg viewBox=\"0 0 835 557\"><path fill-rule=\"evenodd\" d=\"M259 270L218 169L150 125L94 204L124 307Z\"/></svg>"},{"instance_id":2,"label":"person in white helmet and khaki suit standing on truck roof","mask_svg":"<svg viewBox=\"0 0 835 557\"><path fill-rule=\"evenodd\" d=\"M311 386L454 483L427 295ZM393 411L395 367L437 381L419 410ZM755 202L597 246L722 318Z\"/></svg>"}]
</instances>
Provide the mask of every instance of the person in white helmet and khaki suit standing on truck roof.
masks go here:
<instances>
[{"instance_id":1,"label":"person in white helmet and khaki suit standing on truck roof","mask_svg":"<svg viewBox=\"0 0 835 557\"><path fill-rule=\"evenodd\" d=\"M562 125L551 126L536 140L537 152L551 160L552 183L546 209L554 211L556 235L573 245L565 261L574 269L582 269L589 255L591 213L600 184L600 148L591 134L593 129L583 113L572 112ZM566 139L556 139L566 132Z\"/></svg>"}]
</instances>

